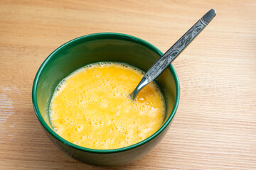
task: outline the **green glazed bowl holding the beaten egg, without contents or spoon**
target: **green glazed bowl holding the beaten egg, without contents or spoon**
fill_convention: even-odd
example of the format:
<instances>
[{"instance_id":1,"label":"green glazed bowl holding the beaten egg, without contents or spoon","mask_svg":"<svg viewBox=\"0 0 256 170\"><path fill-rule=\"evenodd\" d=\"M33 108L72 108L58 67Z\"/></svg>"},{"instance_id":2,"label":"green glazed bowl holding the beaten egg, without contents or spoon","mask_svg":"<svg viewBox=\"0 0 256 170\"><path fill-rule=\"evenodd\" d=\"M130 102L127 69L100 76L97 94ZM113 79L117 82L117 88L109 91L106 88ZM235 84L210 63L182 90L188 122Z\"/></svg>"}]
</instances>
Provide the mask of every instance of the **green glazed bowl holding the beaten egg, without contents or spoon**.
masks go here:
<instances>
[{"instance_id":1,"label":"green glazed bowl holding the beaten egg, without contents or spoon","mask_svg":"<svg viewBox=\"0 0 256 170\"><path fill-rule=\"evenodd\" d=\"M48 108L58 83L86 64L125 62L146 71L162 54L149 42L120 33L85 35L58 47L43 62L33 82L33 108L46 135L65 154L86 164L117 166L132 162L148 153L166 134L178 107L180 91L178 77L172 65L156 79L166 102L163 125L154 135L129 147L101 150L74 145L53 131L49 123Z\"/></svg>"}]
</instances>

